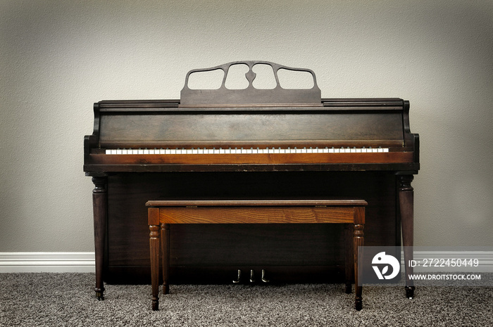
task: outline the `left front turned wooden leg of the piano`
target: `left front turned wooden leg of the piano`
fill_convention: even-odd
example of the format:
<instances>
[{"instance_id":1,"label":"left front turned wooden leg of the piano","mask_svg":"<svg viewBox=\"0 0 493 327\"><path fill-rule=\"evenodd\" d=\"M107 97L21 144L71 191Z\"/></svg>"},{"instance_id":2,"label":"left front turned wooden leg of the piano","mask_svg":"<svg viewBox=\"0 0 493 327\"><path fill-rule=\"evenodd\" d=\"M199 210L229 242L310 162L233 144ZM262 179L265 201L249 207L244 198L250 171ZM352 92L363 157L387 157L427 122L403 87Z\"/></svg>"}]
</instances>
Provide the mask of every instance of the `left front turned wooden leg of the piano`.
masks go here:
<instances>
[{"instance_id":1,"label":"left front turned wooden leg of the piano","mask_svg":"<svg viewBox=\"0 0 493 327\"><path fill-rule=\"evenodd\" d=\"M94 252L96 264L96 297L104 300L104 243L106 241L106 224L108 220L108 191L106 177L92 177L94 190L92 191L92 209L94 213Z\"/></svg>"}]
</instances>

